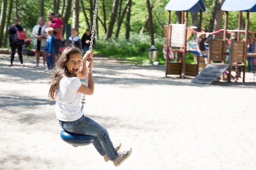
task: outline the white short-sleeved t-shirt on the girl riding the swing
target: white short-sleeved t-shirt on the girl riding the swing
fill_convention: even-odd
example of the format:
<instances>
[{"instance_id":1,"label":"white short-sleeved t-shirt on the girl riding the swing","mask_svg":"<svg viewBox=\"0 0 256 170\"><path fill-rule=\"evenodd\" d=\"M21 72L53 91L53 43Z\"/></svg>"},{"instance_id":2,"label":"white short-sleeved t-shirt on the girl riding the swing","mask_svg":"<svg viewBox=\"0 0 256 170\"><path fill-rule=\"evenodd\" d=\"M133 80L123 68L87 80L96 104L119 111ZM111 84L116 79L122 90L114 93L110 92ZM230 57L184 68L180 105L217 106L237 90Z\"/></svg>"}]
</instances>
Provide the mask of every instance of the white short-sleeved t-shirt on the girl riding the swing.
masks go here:
<instances>
[{"instance_id":1,"label":"white short-sleeved t-shirt on the girl riding the swing","mask_svg":"<svg viewBox=\"0 0 256 170\"><path fill-rule=\"evenodd\" d=\"M81 111L81 93L77 92L81 86L78 77L66 77L60 81L56 94L56 117L61 121L75 121L83 116Z\"/></svg>"}]
</instances>

